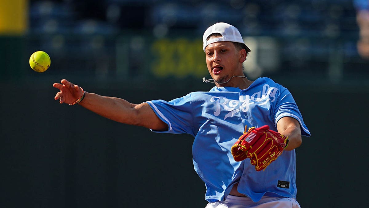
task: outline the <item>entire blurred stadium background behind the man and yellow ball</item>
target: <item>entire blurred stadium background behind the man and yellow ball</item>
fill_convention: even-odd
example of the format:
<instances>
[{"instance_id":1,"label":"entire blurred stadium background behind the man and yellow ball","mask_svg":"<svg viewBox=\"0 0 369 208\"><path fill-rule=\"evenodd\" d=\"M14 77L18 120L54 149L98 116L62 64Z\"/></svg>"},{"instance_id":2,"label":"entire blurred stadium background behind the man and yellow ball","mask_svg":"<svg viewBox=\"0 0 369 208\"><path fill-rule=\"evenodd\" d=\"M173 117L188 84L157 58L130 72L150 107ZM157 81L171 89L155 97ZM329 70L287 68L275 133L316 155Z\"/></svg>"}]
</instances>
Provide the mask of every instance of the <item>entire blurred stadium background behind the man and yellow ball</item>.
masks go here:
<instances>
[{"instance_id":1,"label":"entire blurred stadium background behind the man and yellow ball","mask_svg":"<svg viewBox=\"0 0 369 208\"><path fill-rule=\"evenodd\" d=\"M293 94L301 207L368 207L367 0L0 0L0 207L205 207L189 135L60 105L52 84L131 103L208 91L207 27L236 26L245 74ZM28 59L51 57L44 73ZM173 150L172 141L183 141Z\"/></svg>"}]
</instances>

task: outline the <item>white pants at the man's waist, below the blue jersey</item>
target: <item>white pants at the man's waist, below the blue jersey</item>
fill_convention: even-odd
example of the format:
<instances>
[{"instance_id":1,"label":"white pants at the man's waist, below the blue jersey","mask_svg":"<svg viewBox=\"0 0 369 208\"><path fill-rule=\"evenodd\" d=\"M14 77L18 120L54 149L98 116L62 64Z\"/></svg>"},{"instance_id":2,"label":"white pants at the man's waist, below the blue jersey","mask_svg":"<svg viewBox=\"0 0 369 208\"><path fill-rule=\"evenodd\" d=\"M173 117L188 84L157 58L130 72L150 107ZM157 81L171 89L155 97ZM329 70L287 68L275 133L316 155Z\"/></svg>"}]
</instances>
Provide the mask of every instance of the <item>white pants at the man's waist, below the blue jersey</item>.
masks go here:
<instances>
[{"instance_id":1,"label":"white pants at the man's waist, below the blue jersey","mask_svg":"<svg viewBox=\"0 0 369 208\"><path fill-rule=\"evenodd\" d=\"M260 201L253 202L247 197L228 195L225 201L212 202L205 208L300 208L299 202L294 198L262 197Z\"/></svg>"}]
</instances>

